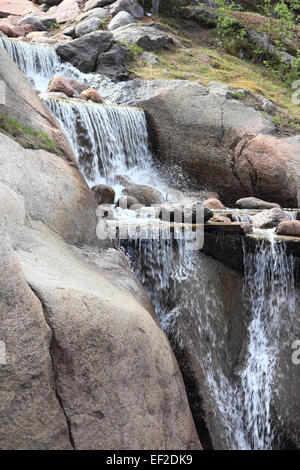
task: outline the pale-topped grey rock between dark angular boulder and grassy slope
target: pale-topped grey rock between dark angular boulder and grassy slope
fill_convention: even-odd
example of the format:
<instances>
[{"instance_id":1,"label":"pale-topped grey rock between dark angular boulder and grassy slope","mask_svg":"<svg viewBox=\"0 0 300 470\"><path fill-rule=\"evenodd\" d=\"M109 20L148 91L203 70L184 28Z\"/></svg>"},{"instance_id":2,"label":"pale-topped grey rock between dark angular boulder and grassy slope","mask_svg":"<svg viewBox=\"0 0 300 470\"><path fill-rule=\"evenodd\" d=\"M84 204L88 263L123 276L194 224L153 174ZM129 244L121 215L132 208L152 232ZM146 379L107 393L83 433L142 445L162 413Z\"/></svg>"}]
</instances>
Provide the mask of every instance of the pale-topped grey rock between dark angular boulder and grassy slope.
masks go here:
<instances>
[{"instance_id":1,"label":"pale-topped grey rock between dark angular boulder and grassy slope","mask_svg":"<svg viewBox=\"0 0 300 470\"><path fill-rule=\"evenodd\" d=\"M135 44L147 51L161 49L169 41L168 36L159 31L156 26L145 24L129 24L113 31L116 41L123 41L126 44Z\"/></svg>"}]
</instances>

